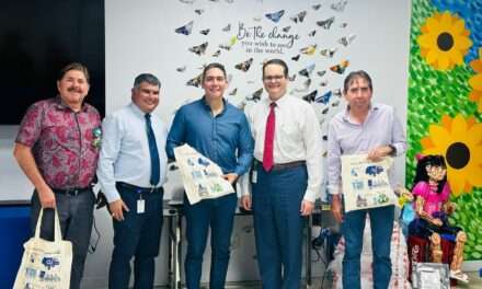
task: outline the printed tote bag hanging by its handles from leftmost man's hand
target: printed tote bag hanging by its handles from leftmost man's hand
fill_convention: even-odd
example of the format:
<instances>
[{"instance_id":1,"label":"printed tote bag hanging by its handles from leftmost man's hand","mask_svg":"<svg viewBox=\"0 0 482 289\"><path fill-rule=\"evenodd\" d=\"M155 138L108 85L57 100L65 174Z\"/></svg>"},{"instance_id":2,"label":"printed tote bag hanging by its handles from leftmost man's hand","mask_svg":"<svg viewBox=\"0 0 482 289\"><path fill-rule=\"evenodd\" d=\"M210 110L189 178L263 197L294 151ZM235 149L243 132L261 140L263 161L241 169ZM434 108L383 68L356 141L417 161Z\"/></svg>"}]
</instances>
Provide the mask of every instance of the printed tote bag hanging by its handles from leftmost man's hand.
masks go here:
<instances>
[{"instance_id":1,"label":"printed tote bag hanging by its handles from leftmost man's hand","mask_svg":"<svg viewBox=\"0 0 482 289\"><path fill-rule=\"evenodd\" d=\"M25 252L16 273L13 289L66 289L70 287L72 243L61 239L57 210L55 210L54 242L41 239L43 215L44 209L38 216L35 235L23 244Z\"/></svg>"}]
</instances>

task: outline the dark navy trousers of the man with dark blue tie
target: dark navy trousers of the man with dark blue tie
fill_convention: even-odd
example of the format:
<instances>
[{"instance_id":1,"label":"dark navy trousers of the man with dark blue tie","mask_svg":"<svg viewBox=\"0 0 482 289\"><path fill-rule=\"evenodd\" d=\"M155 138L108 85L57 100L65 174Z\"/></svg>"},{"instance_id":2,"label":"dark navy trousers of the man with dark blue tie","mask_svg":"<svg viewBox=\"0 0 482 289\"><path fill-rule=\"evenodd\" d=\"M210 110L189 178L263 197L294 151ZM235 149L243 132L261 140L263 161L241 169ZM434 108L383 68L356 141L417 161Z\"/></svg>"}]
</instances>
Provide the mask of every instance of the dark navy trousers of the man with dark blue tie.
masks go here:
<instances>
[{"instance_id":1,"label":"dark navy trousers of the man with dark blue tie","mask_svg":"<svg viewBox=\"0 0 482 289\"><path fill-rule=\"evenodd\" d=\"M141 193L145 212L137 213L136 189L117 185L123 201L129 208L124 221L113 219L114 251L108 270L108 288L127 289L130 279L130 259L134 259L134 288L152 288L154 258L159 255L162 232L163 190Z\"/></svg>"}]
</instances>

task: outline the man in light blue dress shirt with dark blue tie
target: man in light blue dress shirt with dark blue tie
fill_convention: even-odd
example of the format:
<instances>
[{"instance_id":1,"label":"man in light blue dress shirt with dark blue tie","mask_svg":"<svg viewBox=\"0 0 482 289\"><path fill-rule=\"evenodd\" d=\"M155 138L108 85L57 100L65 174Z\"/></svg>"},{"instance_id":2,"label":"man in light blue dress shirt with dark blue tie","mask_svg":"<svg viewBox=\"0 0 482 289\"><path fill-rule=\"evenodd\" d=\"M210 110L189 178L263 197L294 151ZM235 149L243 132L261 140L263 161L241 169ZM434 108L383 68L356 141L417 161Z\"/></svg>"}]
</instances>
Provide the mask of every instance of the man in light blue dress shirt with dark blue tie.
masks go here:
<instances>
[{"instance_id":1,"label":"man in light blue dress shirt with dark blue tie","mask_svg":"<svg viewBox=\"0 0 482 289\"><path fill-rule=\"evenodd\" d=\"M162 199L168 157L168 128L152 115L159 104L160 81L142 73L135 79L133 102L105 117L97 166L101 189L113 217L114 251L108 288L128 288L134 259L134 288L152 288L154 257L159 255L162 231ZM150 117L146 117L146 115ZM156 136L160 176L151 184L151 154L147 120Z\"/></svg>"}]
</instances>

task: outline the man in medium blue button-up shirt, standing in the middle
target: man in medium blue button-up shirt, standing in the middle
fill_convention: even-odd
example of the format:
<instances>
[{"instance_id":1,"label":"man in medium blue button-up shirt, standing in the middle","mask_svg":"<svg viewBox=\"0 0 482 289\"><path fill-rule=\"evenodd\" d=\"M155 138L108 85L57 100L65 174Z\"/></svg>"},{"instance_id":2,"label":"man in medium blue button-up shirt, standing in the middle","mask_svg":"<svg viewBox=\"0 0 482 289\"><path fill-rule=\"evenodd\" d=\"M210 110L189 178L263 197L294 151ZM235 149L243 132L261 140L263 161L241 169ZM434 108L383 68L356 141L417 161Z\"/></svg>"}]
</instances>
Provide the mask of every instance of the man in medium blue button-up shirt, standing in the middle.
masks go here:
<instances>
[{"instance_id":1,"label":"man in medium blue button-up shirt, standing in the middle","mask_svg":"<svg viewBox=\"0 0 482 289\"><path fill-rule=\"evenodd\" d=\"M174 148L187 143L218 164L225 174L223 177L236 186L238 177L249 170L253 154L248 119L243 112L223 99L228 82L222 65L208 65L203 72L202 85L205 95L182 106L175 114L168 137L168 155L174 159ZM237 203L237 194L204 199L194 205L184 197L187 239L184 268L187 288L199 288L209 226L209 288L225 288Z\"/></svg>"}]
</instances>

